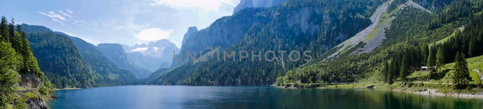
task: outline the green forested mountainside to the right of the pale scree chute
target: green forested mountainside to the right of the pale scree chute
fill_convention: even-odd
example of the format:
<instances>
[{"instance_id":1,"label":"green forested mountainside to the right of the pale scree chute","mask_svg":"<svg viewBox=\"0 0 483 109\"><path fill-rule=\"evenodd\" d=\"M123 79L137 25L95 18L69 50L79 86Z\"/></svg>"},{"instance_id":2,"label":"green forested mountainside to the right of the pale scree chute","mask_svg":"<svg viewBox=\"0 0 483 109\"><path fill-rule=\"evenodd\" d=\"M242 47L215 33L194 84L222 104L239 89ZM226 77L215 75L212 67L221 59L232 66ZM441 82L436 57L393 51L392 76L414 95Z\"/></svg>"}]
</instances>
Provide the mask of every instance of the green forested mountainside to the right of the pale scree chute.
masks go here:
<instances>
[{"instance_id":1,"label":"green forested mountainside to the right of the pale scree chute","mask_svg":"<svg viewBox=\"0 0 483 109\"><path fill-rule=\"evenodd\" d=\"M356 41L355 46L331 48L310 64L286 72L284 76L277 78L275 84L286 87L316 87L327 83L380 81L390 85L396 81L404 83L431 80L453 81L455 84L457 79L467 80L468 73L467 76L461 76L463 78L451 77L450 75L457 73L453 69L419 69L422 66L438 67L452 63L458 55L474 57L483 54L483 1L428 0L433 1L432 4L429 3L429 8L428 2L422 1L388 1L392 3L385 3L388 4L388 8L381 16L380 22L389 25L384 27L379 24L376 28L383 26L383 30L369 31L383 31L384 34L358 33L356 36L363 39ZM442 1L444 3L441 3ZM384 38L382 42L371 42L370 40L376 39L375 37ZM355 39L351 38L346 42ZM372 50L365 50L366 48ZM336 51L342 52L325 60ZM440 57L440 61L437 61L437 56ZM467 69L463 71L465 70ZM412 76L421 73L426 75ZM451 80L448 80L449 78ZM404 85L402 87L405 88Z\"/></svg>"}]
</instances>

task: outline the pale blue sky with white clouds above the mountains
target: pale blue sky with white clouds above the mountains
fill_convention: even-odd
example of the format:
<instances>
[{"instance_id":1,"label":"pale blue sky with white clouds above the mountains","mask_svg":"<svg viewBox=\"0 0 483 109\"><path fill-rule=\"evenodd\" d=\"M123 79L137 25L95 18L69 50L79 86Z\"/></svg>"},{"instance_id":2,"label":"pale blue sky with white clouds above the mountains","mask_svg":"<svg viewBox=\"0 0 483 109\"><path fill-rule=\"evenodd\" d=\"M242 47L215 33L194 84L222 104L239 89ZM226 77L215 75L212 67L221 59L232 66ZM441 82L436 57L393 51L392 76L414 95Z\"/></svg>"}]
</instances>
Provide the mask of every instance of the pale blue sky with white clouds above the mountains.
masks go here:
<instances>
[{"instance_id":1,"label":"pale blue sky with white clouds above the mountains","mask_svg":"<svg viewBox=\"0 0 483 109\"><path fill-rule=\"evenodd\" d=\"M0 14L85 41L134 45L168 39L178 48L188 27L206 28L240 0L6 0ZM11 5L5 5L11 4Z\"/></svg>"}]
</instances>

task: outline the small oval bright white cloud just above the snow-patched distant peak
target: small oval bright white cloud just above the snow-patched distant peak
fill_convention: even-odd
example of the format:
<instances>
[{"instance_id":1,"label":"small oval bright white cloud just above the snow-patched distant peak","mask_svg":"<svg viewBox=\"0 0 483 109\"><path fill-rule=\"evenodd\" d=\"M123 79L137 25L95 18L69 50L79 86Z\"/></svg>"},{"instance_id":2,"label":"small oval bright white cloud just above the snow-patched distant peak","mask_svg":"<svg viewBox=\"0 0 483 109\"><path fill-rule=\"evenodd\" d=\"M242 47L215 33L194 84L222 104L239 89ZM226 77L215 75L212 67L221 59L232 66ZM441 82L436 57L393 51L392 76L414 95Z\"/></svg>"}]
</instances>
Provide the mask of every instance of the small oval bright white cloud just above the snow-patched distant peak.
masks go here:
<instances>
[{"instance_id":1,"label":"small oval bright white cloud just above the snow-patched distant peak","mask_svg":"<svg viewBox=\"0 0 483 109\"><path fill-rule=\"evenodd\" d=\"M173 32L173 30L163 30L161 28L150 28L150 29L144 29L139 34L137 34L136 38L139 40L144 40L144 41L155 41L155 40L160 40L160 39L166 39L170 37L170 34Z\"/></svg>"}]
</instances>

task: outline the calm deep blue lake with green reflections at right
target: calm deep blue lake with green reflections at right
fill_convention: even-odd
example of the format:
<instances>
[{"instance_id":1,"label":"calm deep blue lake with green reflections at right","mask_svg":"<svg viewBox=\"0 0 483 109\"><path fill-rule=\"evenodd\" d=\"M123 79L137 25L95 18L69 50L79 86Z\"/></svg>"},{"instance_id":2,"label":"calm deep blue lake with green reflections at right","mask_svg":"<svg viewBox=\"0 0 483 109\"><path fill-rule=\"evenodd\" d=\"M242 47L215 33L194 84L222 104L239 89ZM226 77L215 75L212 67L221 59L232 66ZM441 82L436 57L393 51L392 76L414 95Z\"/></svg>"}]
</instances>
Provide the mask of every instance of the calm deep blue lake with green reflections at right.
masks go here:
<instances>
[{"instance_id":1,"label":"calm deep blue lake with green reflections at right","mask_svg":"<svg viewBox=\"0 0 483 109\"><path fill-rule=\"evenodd\" d=\"M51 109L482 109L481 98L374 89L129 85L57 90Z\"/></svg>"}]
</instances>

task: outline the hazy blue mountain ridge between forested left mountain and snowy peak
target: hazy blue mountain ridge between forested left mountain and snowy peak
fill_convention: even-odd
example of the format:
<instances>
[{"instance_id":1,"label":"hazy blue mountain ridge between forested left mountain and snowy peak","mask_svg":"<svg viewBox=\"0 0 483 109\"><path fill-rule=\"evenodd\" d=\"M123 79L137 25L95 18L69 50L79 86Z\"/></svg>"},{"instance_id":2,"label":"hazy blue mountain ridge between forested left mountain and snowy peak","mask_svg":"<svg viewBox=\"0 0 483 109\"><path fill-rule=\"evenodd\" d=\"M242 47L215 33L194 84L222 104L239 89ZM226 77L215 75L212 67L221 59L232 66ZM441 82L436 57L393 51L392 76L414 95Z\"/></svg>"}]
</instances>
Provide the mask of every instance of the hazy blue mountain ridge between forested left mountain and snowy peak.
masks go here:
<instances>
[{"instance_id":1,"label":"hazy blue mountain ridge between forested left mountain and snowy peak","mask_svg":"<svg viewBox=\"0 0 483 109\"><path fill-rule=\"evenodd\" d=\"M103 43L97 45L99 51L110 61L112 61L120 69L125 69L136 75L139 79L144 79L149 76L151 72L143 69L135 64L131 58L126 54L124 49L119 44Z\"/></svg>"}]
</instances>

